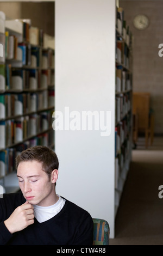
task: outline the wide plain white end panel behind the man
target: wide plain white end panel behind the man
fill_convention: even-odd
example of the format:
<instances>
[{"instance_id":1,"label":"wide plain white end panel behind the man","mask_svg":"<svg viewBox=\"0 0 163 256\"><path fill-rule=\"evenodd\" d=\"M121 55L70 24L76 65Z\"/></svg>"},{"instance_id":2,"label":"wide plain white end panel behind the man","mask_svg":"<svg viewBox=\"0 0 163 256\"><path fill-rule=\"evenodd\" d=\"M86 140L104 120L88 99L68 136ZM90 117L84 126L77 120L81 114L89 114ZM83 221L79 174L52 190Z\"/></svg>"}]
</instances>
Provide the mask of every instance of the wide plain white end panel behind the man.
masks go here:
<instances>
[{"instance_id":1,"label":"wide plain white end panel behind the man","mask_svg":"<svg viewBox=\"0 0 163 256\"><path fill-rule=\"evenodd\" d=\"M55 152L57 193L108 221L114 237L115 1L55 1L55 110L65 107L111 112L110 136L55 131Z\"/></svg>"}]
</instances>

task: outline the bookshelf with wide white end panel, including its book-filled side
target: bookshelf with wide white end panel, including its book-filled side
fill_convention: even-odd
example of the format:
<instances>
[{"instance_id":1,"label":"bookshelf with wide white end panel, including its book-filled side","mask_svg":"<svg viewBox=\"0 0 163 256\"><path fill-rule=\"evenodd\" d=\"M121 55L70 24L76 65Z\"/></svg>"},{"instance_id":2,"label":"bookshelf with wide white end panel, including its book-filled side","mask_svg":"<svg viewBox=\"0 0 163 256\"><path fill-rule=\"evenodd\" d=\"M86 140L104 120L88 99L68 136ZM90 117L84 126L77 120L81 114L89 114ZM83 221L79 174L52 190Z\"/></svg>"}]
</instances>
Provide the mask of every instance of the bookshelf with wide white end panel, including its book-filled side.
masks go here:
<instances>
[{"instance_id":1,"label":"bookshelf with wide white end panel, including its book-filled side","mask_svg":"<svg viewBox=\"0 0 163 256\"><path fill-rule=\"evenodd\" d=\"M70 113L90 111L92 119L95 112L111 113L109 136L95 127L55 131L61 163L57 192L108 221L110 238L115 237L132 146L131 34L127 24L126 36L119 31L116 16L116 1L55 1L55 107L62 113L65 106Z\"/></svg>"}]
</instances>

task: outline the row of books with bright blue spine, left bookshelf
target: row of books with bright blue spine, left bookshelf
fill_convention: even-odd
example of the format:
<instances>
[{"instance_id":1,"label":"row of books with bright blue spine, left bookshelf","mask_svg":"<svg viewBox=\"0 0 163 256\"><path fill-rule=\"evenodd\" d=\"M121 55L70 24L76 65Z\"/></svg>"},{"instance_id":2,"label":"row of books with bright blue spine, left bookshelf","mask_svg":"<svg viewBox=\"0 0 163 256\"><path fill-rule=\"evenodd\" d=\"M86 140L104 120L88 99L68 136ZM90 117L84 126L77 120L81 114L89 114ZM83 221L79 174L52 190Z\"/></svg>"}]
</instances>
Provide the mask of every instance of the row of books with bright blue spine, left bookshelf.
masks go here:
<instances>
[{"instance_id":1,"label":"row of books with bright blue spine, left bookshelf","mask_svg":"<svg viewBox=\"0 0 163 256\"><path fill-rule=\"evenodd\" d=\"M23 25L24 24L28 23L23 22ZM26 32L24 33L26 34ZM51 44L52 40L49 38L51 38L51 36L46 35L45 42L47 47ZM11 32L6 28L5 33L0 34L0 44L3 46L3 54L1 54L0 56L1 63L4 63L5 60L7 60L8 62L11 60L12 66L15 67L28 65L32 67L41 67L46 69L54 68L54 50L50 48L44 49L38 46L38 44L33 46L33 41L30 42L30 40L26 39L27 38L24 38L24 36L22 36L20 39L20 36L18 36L17 33Z\"/></svg>"}]
</instances>

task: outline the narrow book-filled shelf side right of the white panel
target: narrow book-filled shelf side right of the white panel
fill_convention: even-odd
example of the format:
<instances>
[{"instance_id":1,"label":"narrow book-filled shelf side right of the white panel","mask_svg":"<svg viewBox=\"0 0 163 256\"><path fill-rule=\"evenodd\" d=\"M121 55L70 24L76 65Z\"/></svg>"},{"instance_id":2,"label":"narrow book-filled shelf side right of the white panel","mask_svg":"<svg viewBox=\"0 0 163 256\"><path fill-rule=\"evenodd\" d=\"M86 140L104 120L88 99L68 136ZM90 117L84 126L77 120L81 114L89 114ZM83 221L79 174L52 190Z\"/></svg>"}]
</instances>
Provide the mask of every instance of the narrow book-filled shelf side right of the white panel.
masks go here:
<instances>
[{"instance_id":1,"label":"narrow book-filled shelf side right of the white panel","mask_svg":"<svg viewBox=\"0 0 163 256\"><path fill-rule=\"evenodd\" d=\"M116 4L116 86L115 86L115 217L131 161L133 35Z\"/></svg>"}]
</instances>

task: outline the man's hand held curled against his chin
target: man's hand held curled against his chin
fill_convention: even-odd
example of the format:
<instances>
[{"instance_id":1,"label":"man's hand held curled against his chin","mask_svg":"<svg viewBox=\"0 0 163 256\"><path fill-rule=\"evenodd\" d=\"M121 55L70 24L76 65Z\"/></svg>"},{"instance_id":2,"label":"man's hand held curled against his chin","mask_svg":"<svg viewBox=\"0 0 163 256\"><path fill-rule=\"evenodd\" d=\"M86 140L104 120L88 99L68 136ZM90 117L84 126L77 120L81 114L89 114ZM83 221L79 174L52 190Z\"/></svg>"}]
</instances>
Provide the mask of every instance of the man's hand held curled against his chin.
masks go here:
<instances>
[{"instance_id":1,"label":"man's hand held curled against his chin","mask_svg":"<svg viewBox=\"0 0 163 256\"><path fill-rule=\"evenodd\" d=\"M4 221L5 226L11 234L27 228L28 225L34 223L34 210L33 205L26 203L18 206L10 215L10 217Z\"/></svg>"}]
</instances>

